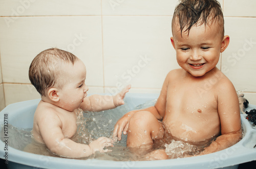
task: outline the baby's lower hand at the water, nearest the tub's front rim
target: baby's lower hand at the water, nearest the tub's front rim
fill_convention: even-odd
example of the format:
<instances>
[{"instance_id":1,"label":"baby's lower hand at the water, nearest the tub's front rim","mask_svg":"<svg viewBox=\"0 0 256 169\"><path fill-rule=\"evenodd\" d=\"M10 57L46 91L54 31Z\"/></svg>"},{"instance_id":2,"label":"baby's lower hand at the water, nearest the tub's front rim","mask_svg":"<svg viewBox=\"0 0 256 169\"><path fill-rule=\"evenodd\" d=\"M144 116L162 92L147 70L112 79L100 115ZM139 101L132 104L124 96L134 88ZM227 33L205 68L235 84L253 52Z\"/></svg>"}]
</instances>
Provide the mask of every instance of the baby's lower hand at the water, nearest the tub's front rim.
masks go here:
<instances>
[{"instance_id":1,"label":"baby's lower hand at the water, nearest the tub's front rim","mask_svg":"<svg viewBox=\"0 0 256 169\"><path fill-rule=\"evenodd\" d=\"M114 147L113 146L113 140L106 138L106 137L99 137L97 140L92 141L89 146L92 149L92 153L94 154L96 151L99 151L100 153L103 152L110 152L111 150L104 149L105 147Z\"/></svg>"}]
</instances>

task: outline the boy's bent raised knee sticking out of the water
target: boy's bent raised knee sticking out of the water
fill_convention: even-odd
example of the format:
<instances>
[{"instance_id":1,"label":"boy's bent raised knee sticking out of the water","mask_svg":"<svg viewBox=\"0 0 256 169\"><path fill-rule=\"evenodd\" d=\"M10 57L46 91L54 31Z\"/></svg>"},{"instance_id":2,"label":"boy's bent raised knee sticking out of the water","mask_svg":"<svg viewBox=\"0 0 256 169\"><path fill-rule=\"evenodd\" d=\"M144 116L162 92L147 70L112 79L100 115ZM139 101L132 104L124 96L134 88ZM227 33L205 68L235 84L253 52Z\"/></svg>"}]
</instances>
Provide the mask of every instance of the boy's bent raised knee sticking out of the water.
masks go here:
<instances>
[{"instance_id":1,"label":"boy's bent raised knee sticking out of the water","mask_svg":"<svg viewBox=\"0 0 256 169\"><path fill-rule=\"evenodd\" d=\"M127 134L127 147L151 148L153 139L162 138L164 129L157 118L148 111L140 111L132 116Z\"/></svg>"}]
</instances>

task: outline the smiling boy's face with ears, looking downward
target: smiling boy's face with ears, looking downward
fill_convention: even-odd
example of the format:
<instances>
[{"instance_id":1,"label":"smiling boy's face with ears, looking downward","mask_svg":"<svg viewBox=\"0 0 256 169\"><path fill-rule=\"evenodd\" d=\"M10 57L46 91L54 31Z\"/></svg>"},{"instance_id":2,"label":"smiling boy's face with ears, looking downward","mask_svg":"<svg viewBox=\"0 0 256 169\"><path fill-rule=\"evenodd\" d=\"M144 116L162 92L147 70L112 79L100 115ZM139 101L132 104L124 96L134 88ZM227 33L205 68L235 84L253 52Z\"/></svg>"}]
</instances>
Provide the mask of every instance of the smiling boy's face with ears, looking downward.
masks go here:
<instances>
[{"instance_id":1,"label":"smiling boy's face with ears, looking downward","mask_svg":"<svg viewBox=\"0 0 256 169\"><path fill-rule=\"evenodd\" d=\"M178 64L195 77L204 76L217 65L220 53L226 49L223 48L223 39L228 38L229 42L229 37L222 38L217 22L206 28L204 24L194 25L189 35L187 31L182 32L182 37L179 24L176 22L175 25L171 41L176 50Z\"/></svg>"}]
</instances>

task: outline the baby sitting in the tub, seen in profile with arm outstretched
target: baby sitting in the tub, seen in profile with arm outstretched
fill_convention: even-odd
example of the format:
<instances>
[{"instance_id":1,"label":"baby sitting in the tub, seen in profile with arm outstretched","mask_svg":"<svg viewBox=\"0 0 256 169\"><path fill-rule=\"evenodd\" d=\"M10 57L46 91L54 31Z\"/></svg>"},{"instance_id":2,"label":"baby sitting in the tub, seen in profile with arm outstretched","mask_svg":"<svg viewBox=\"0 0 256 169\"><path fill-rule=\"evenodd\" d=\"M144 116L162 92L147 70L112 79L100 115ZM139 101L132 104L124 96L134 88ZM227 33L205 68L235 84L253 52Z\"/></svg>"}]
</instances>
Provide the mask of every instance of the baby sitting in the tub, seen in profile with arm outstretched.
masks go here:
<instances>
[{"instance_id":1,"label":"baby sitting in the tub, seen in profile with arm outstretched","mask_svg":"<svg viewBox=\"0 0 256 169\"><path fill-rule=\"evenodd\" d=\"M77 131L77 109L101 111L124 104L123 98L131 86L115 96L87 96L86 66L75 55L48 49L39 53L29 68L29 79L41 94L34 114L32 134L35 142L44 143L54 154L64 157L88 157L96 151L107 152L112 140L100 137L89 145L70 138ZM28 149L28 148L27 148Z\"/></svg>"}]
</instances>

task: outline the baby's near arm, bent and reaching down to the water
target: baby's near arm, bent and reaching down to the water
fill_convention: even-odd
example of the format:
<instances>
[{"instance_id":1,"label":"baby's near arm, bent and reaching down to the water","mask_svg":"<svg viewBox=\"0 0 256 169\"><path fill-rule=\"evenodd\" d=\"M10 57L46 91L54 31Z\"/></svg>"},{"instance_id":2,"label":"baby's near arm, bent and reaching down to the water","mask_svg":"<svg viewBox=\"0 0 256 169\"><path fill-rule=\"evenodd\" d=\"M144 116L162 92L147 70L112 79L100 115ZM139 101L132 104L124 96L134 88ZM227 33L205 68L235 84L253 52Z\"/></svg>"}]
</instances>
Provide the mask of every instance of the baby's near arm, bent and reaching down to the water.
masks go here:
<instances>
[{"instance_id":1,"label":"baby's near arm, bent and reaching down to the water","mask_svg":"<svg viewBox=\"0 0 256 169\"><path fill-rule=\"evenodd\" d=\"M43 118L38 124L39 131L47 148L59 156L71 158L88 157L96 151L108 151L108 149L104 150L104 147L113 146L112 141L106 137L100 137L89 145L76 143L63 135L61 120L55 113L47 113L46 115L47 118Z\"/></svg>"}]
</instances>

